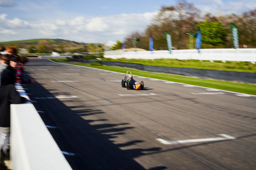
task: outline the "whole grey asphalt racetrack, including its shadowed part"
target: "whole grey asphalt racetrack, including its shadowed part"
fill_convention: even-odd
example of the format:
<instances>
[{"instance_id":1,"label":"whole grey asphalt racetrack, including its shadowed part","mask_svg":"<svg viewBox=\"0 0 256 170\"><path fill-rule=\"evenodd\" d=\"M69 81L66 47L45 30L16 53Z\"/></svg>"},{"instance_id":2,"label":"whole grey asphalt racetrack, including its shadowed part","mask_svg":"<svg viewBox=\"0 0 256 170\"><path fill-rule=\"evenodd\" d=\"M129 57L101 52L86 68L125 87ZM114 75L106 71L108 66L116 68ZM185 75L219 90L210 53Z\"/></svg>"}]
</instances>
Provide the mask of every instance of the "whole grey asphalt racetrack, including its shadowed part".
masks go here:
<instances>
[{"instance_id":1,"label":"whole grey asphalt racetrack, including its shadowed part","mask_svg":"<svg viewBox=\"0 0 256 170\"><path fill-rule=\"evenodd\" d=\"M74 170L255 170L256 96L31 59L24 86Z\"/></svg>"}]
</instances>

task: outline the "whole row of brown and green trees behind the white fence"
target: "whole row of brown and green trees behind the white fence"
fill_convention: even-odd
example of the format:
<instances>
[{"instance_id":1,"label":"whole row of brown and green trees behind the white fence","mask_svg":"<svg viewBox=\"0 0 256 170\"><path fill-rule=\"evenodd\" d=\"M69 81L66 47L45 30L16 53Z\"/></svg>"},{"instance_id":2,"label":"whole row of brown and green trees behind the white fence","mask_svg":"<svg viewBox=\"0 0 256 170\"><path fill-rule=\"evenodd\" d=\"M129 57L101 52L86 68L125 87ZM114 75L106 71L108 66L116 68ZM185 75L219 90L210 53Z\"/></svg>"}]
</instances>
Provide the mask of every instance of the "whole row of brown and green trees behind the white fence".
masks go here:
<instances>
[{"instance_id":1,"label":"whole row of brown and green trees behind the white fence","mask_svg":"<svg viewBox=\"0 0 256 170\"><path fill-rule=\"evenodd\" d=\"M169 32L174 49L189 49L195 38L190 37L200 27L202 48L234 48L230 23L234 23L239 32L240 48L256 48L256 9L242 15L201 16L192 3L182 0L173 6L162 6L160 12L144 32L134 31L125 40L125 48L134 47L149 50L149 34L153 36L155 50L168 50L165 32ZM122 43L117 41L112 50L121 49Z\"/></svg>"}]
</instances>

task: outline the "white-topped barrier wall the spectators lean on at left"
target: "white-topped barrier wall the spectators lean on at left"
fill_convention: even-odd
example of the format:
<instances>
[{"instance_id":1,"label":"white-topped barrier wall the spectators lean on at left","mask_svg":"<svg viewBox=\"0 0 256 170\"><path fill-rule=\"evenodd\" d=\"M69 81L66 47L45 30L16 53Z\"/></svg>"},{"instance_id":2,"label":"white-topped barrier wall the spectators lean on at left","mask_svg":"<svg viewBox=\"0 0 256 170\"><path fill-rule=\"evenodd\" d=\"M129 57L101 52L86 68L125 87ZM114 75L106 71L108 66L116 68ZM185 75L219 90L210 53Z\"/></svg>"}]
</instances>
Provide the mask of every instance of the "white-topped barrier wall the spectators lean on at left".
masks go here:
<instances>
[{"instance_id":1,"label":"white-topped barrier wall the spectators lean on at left","mask_svg":"<svg viewBox=\"0 0 256 170\"><path fill-rule=\"evenodd\" d=\"M27 97L22 86L16 89ZM72 170L30 102L11 105L12 170Z\"/></svg>"}]
</instances>

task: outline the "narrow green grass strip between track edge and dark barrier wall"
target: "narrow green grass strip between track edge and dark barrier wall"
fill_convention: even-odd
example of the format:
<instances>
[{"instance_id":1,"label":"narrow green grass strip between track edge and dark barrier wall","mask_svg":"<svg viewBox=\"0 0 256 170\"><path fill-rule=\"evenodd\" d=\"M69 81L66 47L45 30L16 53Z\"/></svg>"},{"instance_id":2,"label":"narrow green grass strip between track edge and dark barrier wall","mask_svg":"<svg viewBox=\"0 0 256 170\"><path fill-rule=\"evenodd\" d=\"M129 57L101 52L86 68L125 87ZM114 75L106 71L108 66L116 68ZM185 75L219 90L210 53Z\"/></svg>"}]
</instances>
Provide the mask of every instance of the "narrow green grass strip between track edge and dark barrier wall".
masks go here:
<instances>
[{"instance_id":1,"label":"narrow green grass strip between track edge and dark barrier wall","mask_svg":"<svg viewBox=\"0 0 256 170\"><path fill-rule=\"evenodd\" d=\"M119 68L119 67L96 66L96 65L88 65L88 64L73 64L73 65L93 67L97 69L116 71L120 73L126 73L128 70L128 69ZM205 79L198 79L198 78L185 77L185 76L179 76L179 75L150 73L146 71L138 71L138 70L132 70L132 69L129 69L129 70L132 71L133 75L139 75L139 76L155 78L160 80L169 80L169 81L175 81L180 83L186 83L190 85L199 85L203 87L215 88L220 90L229 90L229 91L235 91L239 93L256 95L256 85L251 85L251 84L233 83L233 82L218 81L218 80L205 80Z\"/></svg>"}]
</instances>

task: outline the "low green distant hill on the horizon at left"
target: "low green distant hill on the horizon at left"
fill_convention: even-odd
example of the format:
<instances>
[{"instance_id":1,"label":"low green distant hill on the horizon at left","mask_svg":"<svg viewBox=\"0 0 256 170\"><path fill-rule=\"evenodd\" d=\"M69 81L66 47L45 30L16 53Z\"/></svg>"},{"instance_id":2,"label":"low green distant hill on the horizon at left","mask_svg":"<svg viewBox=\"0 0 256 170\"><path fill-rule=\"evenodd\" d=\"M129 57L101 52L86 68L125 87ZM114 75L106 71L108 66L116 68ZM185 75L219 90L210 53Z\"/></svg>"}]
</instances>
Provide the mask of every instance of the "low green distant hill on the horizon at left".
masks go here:
<instances>
[{"instance_id":1,"label":"low green distant hill on the horizon at left","mask_svg":"<svg viewBox=\"0 0 256 170\"><path fill-rule=\"evenodd\" d=\"M77 45L86 45L86 43L79 43L71 40L63 40L63 39L30 39L30 40L17 40L17 41L6 41L0 42L1 45L35 45L41 40L49 40L51 44L70 44L74 43Z\"/></svg>"}]
</instances>

